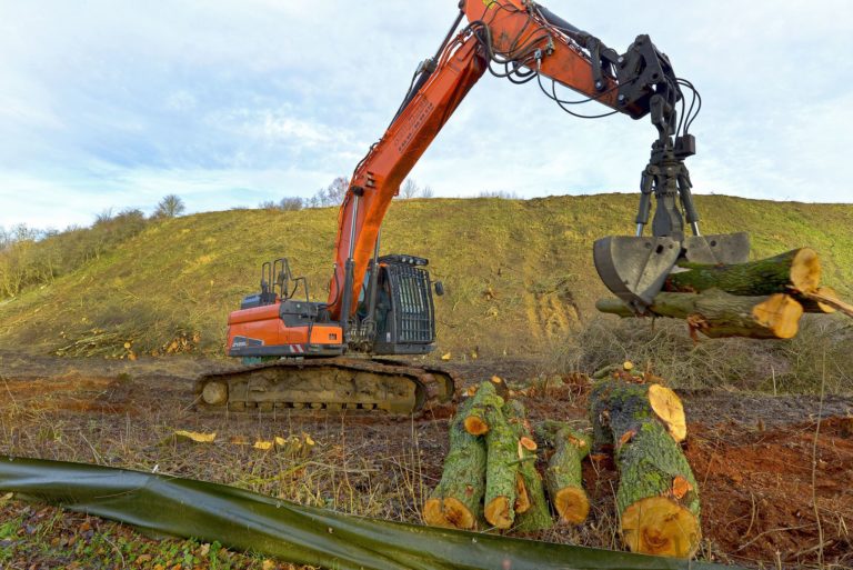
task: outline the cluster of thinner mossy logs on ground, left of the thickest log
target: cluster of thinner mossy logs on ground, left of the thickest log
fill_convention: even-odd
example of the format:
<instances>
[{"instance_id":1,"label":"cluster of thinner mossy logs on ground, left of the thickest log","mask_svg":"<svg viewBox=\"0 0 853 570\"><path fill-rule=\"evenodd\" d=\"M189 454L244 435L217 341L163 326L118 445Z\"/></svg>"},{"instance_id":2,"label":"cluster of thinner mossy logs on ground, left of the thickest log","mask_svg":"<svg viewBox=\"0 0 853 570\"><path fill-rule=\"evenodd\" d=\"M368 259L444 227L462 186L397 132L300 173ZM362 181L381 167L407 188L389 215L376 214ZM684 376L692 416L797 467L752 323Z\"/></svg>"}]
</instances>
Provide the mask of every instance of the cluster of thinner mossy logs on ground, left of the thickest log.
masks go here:
<instances>
[{"instance_id":1,"label":"cluster of thinner mossy logs on ground, left of the thickest log","mask_svg":"<svg viewBox=\"0 0 853 570\"><path fill-rule=\"evenodd\" d=\"M541 433L554 450L546 469L551 502L562 521L580 523L589 512L580 469L589 438L558 422ZM499 378L483 382L451 422L450 451L441 481L423 506L424 522L468 530L551 528L539 451L524 406L509 399Z\"/></svg>"}]
</instances>

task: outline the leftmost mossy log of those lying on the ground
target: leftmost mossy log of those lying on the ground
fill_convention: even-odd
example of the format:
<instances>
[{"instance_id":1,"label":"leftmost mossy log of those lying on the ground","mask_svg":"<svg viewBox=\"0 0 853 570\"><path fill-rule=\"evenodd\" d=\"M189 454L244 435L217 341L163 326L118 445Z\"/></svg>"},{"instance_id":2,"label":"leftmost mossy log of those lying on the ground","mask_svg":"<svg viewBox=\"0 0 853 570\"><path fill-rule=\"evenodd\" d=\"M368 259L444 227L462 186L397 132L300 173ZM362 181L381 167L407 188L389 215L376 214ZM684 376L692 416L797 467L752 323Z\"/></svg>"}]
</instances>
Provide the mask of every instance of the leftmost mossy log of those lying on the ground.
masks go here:
<instances>
[{"instance_id":1,"label":"leftmost mossy log of those lying on the ground","mask_svg":"<svg viewBox=\"0 0 853 570\"><path fill-rule=\"evenodd\" d=\"M471 403L471 399L465 400L451 422L450 450L441 481L423 506L426 524L469 530L481 526L486 451L483 439L464 428Z\"/></svg>"}]
</instances>

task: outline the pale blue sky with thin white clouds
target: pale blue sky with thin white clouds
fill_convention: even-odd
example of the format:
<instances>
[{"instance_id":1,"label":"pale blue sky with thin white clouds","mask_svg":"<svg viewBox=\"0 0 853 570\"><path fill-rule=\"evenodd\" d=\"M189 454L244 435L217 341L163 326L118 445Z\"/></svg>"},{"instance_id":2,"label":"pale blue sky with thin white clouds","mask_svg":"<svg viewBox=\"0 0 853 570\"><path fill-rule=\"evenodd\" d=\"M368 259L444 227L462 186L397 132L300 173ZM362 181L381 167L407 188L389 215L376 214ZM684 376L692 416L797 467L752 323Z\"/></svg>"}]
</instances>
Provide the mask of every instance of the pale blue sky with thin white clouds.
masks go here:
<instances>
[{"instance_id":1,"label":"pale blue sky with thin white clouds","mask_svg":"<svg viewBox=\"0 0 853 570\"><path fill-rule=\"evenodd\" d=\"M695 192L853 202L847 0L543 3L620 52L649 33L696 86ZM170 193L188 212L308 198L382 136L455 7L0 0L0 226L86 226ZM436 197L631 192L654 136L486 74L411 178Z\"/></svg>"}]
</instances>

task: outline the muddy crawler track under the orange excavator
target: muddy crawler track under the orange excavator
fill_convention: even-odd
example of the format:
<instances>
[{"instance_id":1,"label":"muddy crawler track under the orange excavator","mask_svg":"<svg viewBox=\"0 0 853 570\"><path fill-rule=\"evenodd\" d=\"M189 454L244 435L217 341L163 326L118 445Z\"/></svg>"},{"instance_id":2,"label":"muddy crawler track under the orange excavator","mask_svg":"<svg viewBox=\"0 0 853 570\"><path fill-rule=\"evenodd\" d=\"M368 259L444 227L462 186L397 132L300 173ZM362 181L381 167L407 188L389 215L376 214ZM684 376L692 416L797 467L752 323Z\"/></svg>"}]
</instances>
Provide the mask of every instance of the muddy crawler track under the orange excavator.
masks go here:
<instances>
[{"instance_id":1,"label":"muddy crawler track under the orange excavator","mask_svg":"<svg viewBox=\"0 0 853 570\"><path fill-rule=\"evenodd\" d=\"M200 406L232 411L383 410L412 413L452 400L453 376L393 360L278 360L213 372L195 382Z\"/></svg>"}]
</instances>

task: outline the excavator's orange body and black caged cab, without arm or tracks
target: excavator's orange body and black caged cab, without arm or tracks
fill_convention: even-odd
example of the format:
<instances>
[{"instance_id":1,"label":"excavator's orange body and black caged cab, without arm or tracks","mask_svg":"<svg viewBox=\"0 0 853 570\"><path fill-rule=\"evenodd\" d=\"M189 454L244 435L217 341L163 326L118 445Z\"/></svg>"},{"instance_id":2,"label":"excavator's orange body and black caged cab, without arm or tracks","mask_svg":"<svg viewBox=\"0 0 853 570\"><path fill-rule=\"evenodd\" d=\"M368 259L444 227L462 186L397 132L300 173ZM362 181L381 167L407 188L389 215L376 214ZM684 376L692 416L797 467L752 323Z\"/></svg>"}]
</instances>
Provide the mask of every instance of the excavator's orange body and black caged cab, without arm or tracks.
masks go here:
<instances>
[{"instance_id":1,"label":"excavator's orange body and black caged cab, without arm or tracks","mask_svg":"<svg viewBox=\"0 0 853 570\"><path fill-rule=\"evenodd\" d=\"M432 282L424 258L383 256L371 262L358 310L345 322L310 300L308 280L284 258L261 266L260 291L228 320L228 353L247 363L287 357L425 354L435 348ZM436 283L436 290L442 291Z\"/></svg>"}]
</instances>

